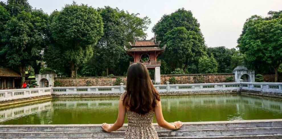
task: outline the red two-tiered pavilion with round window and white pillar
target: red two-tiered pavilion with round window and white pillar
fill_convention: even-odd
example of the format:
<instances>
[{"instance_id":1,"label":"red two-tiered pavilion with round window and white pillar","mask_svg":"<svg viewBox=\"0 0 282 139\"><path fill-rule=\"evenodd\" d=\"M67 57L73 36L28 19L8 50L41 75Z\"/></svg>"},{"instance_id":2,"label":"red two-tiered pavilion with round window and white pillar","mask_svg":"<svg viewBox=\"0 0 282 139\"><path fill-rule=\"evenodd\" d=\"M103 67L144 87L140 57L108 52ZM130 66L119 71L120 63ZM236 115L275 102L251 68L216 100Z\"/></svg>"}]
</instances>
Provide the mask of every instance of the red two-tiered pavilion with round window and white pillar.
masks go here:
<instances>
[{"instance_id":1,"label":"red two-tiered pavilion with round window and white pillar","mask_svg":"<svg viewBox=\"0 0 282 139\"><path fill-rule=\"evenodd\" d=\"M160 48L160 42L156 39L150 40L135 40L133 44L130 43L131 48L128 49L124 46L126 53L134 58L132 65L137 62L143 63L148 69L155 69L155 84L161 83L160 66L161 61L157 61L157 57L165 50L166 45Z\"/></svg>"}]
</instances>

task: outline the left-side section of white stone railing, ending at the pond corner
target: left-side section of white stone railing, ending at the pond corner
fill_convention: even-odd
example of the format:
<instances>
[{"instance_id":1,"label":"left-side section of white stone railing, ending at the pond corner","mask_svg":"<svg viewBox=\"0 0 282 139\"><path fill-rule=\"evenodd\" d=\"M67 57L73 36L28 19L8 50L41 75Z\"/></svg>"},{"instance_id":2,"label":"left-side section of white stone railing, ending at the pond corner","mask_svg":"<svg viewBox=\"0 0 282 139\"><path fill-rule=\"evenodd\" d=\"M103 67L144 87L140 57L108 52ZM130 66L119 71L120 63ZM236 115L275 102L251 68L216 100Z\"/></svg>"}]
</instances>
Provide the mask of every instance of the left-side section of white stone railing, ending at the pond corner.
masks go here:
<instances>
[{"instance_id":1,"label":"left-side section of white stone railing, ending at the pond corner","mask_svg":"<svg viewBox=\"0 0 282 139\"><path fill-rule=\"evenodd\" d=\"M4 101L51 95L51 92L51 87L0 90L0 104Z\"/></svg>"}]
</instances>

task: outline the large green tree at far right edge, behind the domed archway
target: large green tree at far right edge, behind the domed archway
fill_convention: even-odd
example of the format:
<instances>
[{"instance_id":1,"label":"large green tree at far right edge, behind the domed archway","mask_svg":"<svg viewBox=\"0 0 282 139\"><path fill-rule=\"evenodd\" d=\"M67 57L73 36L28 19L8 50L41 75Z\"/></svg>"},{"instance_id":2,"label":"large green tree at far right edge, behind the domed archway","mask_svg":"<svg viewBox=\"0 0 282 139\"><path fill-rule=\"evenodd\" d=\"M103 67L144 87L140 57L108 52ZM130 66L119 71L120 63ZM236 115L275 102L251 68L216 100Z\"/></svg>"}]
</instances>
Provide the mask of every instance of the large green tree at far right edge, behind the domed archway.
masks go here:
<instances>
[{"instance_id":1,"label":"large green tree at far right edge, behind the domed archway","mask_svg":"<svg viewBox=\"0 0 282 139\"><path fill-rule=\"evenodd\" d=\"M282 14L278 15L279 12L271 12L267 18L255 15L247 19L237 46L245 54L246 62L271 66L275 82L282 63Z\"/></svg>"}]
</instances>

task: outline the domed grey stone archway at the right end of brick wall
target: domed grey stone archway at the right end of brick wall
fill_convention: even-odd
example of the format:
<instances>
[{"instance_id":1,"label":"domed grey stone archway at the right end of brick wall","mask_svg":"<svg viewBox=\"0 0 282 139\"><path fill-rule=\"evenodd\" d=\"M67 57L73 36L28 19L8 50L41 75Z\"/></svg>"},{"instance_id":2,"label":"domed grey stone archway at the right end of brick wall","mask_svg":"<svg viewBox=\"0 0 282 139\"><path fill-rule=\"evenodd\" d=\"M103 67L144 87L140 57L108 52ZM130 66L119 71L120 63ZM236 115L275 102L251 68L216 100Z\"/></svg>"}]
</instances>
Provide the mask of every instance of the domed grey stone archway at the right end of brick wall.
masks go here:
<instances>
[{"instance_id":1,"label":"domed grey stone archway at the right end of brick wall","mask_svg":"<svg viewBox=\"0 0 282 139\"><path fill-rule=\"evenodd\" d=\"M237 66L233 73L235 74L235 82L240 82L243 77L244 82L255 82L255 71L248 70L245 66Z\"/></svg>"}]
</instances>

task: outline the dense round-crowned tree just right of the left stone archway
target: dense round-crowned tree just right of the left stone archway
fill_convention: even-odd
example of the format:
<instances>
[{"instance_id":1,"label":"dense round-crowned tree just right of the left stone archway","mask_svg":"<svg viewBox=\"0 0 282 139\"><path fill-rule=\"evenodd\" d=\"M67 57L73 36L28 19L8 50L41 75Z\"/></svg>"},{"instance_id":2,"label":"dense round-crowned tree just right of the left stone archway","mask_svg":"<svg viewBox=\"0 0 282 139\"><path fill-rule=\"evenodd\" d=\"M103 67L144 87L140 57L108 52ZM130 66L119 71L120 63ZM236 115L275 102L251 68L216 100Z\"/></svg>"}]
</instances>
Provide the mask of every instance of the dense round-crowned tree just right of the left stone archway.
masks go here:
<instances>
[{"instance_id":1,"label":"dense round-crowned tree just right of the left stone archway","mask_svg":"<svg viewBox=\"0 0 282 139\"><path fill-rule=\"evenodd\" d=\"M75 2L66 5L60 12L54 11L51 17L52 43L51 48L44 52L45 58L50 60L46 61L47 65L60 70L57 69L59 65L54 66L52 62L62 64L62 67L70 69L69 75L75 77L78 68L93 56L93 46L103 35L102 18L94 8ZM56 52L54 56L52 51Z\"/></svg>"}]
</instances>

